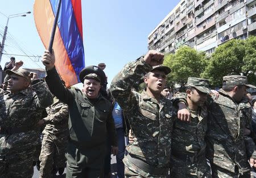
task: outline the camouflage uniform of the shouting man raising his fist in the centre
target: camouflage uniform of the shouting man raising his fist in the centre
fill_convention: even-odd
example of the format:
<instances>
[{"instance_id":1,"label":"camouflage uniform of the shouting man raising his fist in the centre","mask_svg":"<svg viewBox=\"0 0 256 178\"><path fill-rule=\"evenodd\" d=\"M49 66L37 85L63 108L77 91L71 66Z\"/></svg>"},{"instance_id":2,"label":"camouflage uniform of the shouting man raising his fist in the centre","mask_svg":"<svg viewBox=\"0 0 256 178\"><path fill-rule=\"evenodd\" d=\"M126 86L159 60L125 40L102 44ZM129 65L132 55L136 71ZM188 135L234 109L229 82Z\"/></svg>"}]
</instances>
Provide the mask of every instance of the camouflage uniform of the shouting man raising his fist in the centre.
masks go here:
<instances>
[{"instance_id":1,"label":"camouflage uniform of the shouting man raising his fist in the centre","mask_svg":"<svg viewBox=\"0 0 256 178\"><path fill-rule=\"evenodd\" d=\"M170 164L172 101L161 96L158 102L145 90L141 94L131 91L151 69L142 58L127 64L110 87L122 109L131 113L129 122L136 138L127 146L129 154L123 159L126 177L166 177Z\"/></svg>"}]
</instances>

